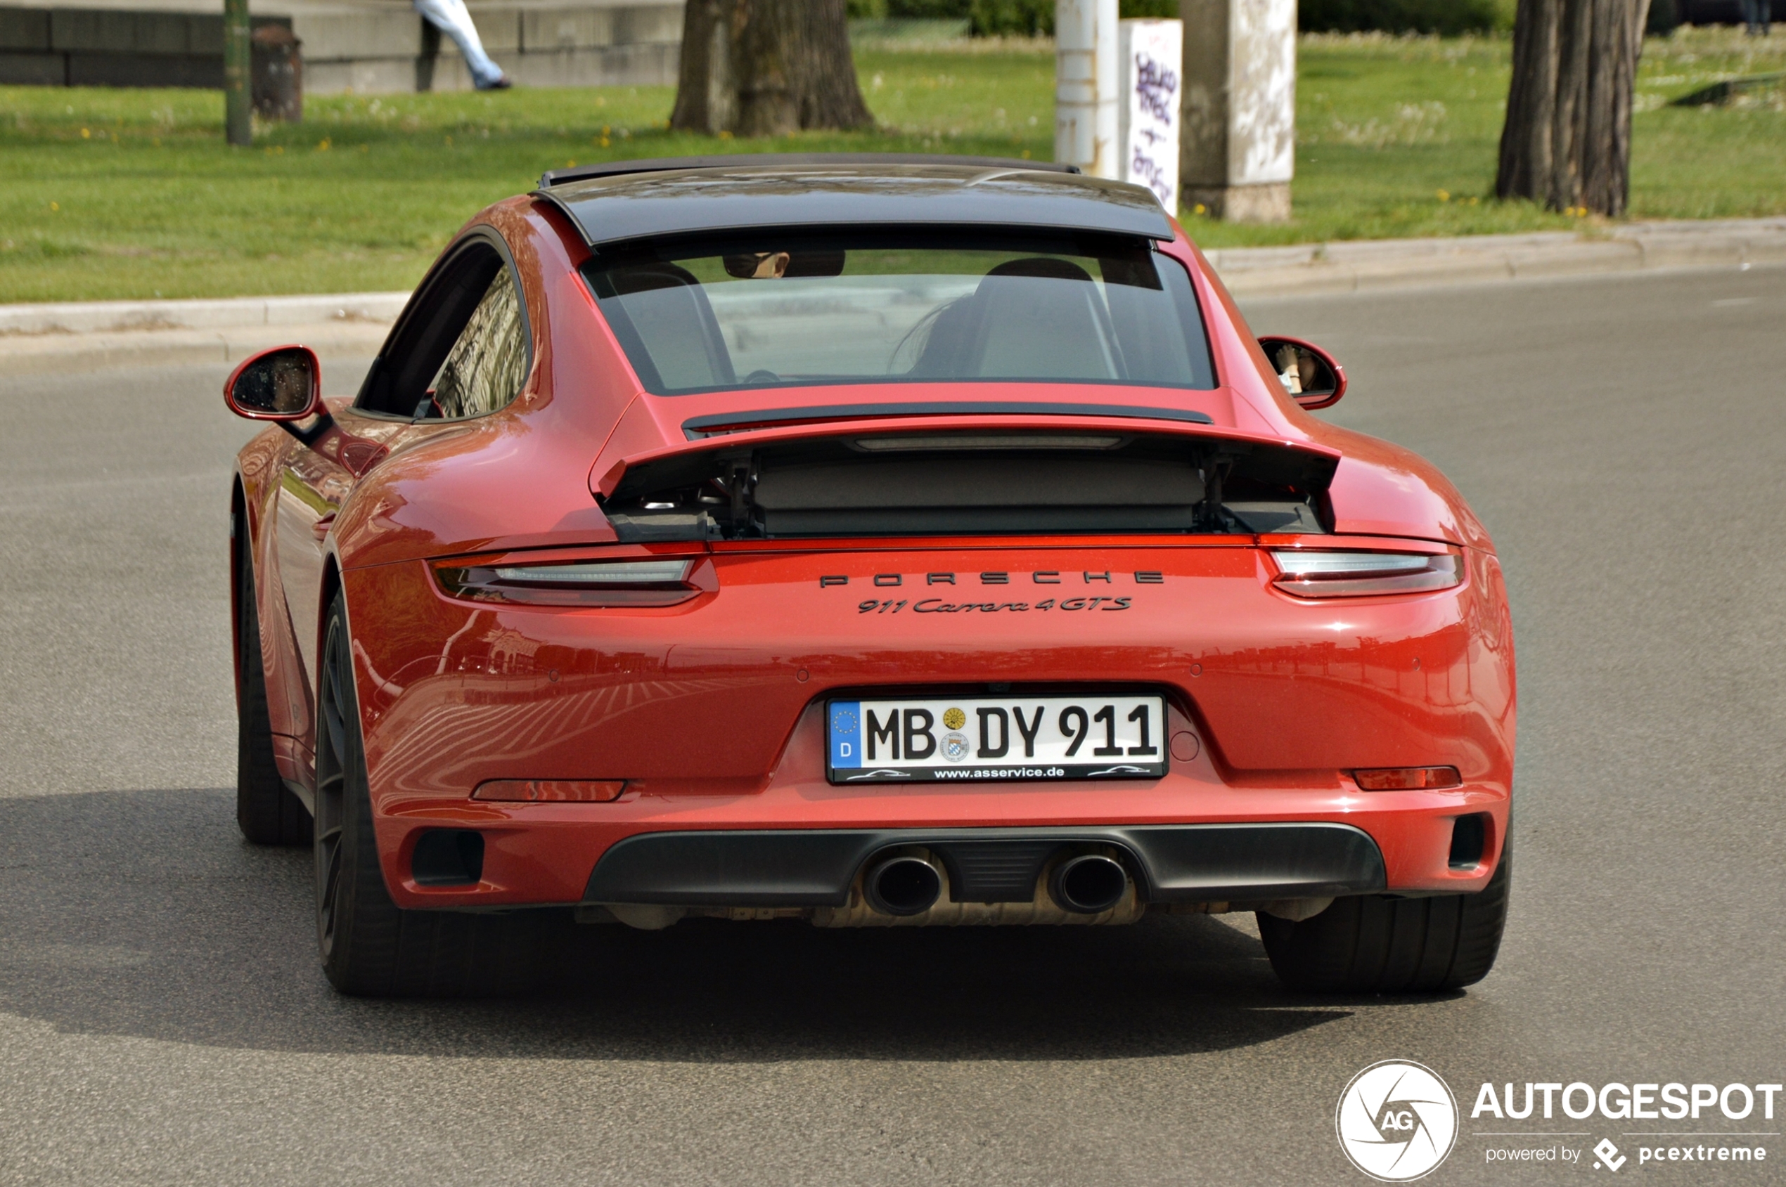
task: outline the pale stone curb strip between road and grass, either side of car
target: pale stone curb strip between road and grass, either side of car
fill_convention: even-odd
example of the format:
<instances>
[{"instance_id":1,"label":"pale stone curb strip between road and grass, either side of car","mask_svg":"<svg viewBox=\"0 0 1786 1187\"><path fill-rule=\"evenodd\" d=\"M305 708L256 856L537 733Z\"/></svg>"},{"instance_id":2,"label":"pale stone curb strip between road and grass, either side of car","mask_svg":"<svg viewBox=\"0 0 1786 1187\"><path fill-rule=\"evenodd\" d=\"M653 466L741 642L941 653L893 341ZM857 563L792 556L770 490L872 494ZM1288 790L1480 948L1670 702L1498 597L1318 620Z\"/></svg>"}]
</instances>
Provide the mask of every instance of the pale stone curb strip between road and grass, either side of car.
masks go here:
<instances>
[{"instance_id":1,"label":"pale stone curb strip between road and grass, either side of car","mask_svg":"<svg viewBox=\"0 0 1786 1187\"><path fill-rule=\"evenodd\" d=\"M1629 223L1572 232L1223 248L1209 262L1234 296L1320 296L1545 277L1786 264L1786 218ZM0 305L0 375L239 362L304 343L323 361L377 353L407 293L198 302Z\"/></svg>"}]
</instances>

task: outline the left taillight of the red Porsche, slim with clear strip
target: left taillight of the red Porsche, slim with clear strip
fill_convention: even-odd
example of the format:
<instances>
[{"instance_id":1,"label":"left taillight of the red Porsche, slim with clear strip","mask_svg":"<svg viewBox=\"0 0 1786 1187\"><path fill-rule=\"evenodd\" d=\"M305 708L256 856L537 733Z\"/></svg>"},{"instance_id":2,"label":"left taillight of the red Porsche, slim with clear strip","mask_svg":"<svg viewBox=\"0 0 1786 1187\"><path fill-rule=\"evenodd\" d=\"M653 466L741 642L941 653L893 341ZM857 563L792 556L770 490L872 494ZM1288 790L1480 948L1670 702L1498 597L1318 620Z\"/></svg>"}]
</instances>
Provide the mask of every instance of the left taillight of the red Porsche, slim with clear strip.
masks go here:
<instances>
[{"instance_id":1,"label":"left taillight of the red Porsche, slim with clear strip","mask_svg":"<svg viewBox=\"0 0 1786 1187\"><path fill-rule=\"evenodd\" d=\"M697 557L441 566L446 593L532 605L677 605L702 593L689 580ZM711 569L709 569L711 571Z\"/></svg>"}]
</instances>

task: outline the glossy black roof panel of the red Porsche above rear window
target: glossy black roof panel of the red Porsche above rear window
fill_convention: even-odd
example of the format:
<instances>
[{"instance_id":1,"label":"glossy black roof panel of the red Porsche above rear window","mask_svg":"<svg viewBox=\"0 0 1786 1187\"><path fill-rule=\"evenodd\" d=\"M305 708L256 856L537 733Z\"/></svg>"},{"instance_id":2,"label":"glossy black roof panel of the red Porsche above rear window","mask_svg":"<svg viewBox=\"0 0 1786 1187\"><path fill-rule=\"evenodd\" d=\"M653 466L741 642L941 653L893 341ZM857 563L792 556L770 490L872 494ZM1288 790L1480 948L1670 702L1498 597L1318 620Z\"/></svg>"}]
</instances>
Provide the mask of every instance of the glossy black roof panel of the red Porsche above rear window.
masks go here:
<instances>
[{"instance_id":1,"label":"glossy black roof panel of the red Porsche above rear window","mask_svg":"<svg viewBox=\"0 0 1786 1187\"><path fill-rule=\"evenodd\" d=\"M630 168L629 168L630 166ZM625 170L625 171L618 171ZM591 246L755 227L1034 227L1172 239L1143 186L975 157L707 157L548 173Z\"/></svg>"}]
</instances>

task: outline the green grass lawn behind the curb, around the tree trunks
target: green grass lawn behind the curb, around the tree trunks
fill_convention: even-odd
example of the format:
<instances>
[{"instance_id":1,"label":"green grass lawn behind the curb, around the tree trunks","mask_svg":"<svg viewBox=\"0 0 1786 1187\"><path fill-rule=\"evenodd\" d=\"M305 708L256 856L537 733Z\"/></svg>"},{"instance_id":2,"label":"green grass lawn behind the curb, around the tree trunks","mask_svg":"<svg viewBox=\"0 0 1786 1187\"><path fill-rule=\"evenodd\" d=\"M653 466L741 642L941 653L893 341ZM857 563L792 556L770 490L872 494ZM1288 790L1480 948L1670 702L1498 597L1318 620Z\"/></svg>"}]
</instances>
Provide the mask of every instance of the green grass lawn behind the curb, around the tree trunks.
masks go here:
<instances>
[{"instance_id":1,"label":"green grass lawn behind the curb, around the tree trunks","mask_svg":"<svg viewBox=\"0 0 1786 1187\"><path fill-rule=\"evenodd\" d=\"M1488 195L1506 39L1306 37L1297 221L1188 214L1207 246L1581 227ZM1645 46L1632 212L1786 212L1786 93L1729 107L1668 98L1786 70L1732 30ZM209 91L0 87L0 302L409 287L479 207L541 170L713 152L1047 157L1054 59L1025 43L861 46L880 129L779 141L670 134L668 87L316 96L296 127L221 143Z\"/></svg>"}]
</instances>

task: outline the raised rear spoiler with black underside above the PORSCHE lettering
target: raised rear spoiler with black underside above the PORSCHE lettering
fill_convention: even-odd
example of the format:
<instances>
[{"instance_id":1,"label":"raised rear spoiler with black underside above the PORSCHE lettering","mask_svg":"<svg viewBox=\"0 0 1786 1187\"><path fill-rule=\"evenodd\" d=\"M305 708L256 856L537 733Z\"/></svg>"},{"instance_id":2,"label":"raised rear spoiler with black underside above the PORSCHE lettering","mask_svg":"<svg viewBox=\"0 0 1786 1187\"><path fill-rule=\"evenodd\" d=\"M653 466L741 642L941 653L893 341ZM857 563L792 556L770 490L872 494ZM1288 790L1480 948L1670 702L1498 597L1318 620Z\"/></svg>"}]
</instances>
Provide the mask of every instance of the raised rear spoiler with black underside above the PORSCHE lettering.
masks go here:
<instances>
[{"instance_id":1,"label":"raised rear spoiler with black underside above the PORSCHE lettering","mask_svg":"<svg viewBox=\"0 0 1786 1187\"><path fill-rule=\"evenodd\" d=\"M591 471L591 493L627 543L1331 528L1336 450L1200 412L993 407L997 419L968 425L813 421L816 407L695 418L684 432L700 437Z\"/></svg>"}]
</instances>

